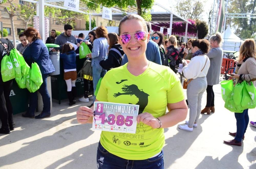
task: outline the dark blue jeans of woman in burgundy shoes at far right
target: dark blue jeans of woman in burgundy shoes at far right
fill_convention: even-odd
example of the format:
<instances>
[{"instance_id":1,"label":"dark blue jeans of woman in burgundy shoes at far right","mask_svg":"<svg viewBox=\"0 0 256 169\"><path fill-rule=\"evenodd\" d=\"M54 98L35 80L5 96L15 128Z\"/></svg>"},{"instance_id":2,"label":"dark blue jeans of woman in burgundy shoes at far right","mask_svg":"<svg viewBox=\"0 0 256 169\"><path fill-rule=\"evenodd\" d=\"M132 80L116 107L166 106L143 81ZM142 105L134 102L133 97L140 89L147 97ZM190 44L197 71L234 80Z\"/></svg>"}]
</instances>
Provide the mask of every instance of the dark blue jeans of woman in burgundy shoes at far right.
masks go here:
<instances>
[{"instance_id":1,"label":"dark blue jeans of woman in burgundy shoes at far right","mask_svg":"<svg viewBox=\"0 0 256 169\"><path fill-rule=\"evenodd\" d=\"M242 141L242 137L249 123L248 109L245 109L243 113L235 113L235 117L237 120L237 134L235 140Z\"/></svg>"}]
</instances>

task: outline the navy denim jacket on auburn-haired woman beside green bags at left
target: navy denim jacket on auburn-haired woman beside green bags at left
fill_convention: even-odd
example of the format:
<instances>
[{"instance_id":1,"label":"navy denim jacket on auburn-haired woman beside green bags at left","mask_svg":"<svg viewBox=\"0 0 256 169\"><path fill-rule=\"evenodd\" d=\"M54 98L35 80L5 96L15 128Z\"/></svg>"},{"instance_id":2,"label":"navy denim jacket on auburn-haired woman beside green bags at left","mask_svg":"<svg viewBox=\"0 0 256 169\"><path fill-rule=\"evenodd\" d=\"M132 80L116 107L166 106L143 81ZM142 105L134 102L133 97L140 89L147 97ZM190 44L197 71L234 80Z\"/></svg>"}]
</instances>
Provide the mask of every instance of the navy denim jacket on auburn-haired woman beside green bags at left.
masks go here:
<instances>
[{"instance_id":1,"label":"navy denim jacket on auburn-haired woman beside green bags at left","mask_svg":"<svg viewBox=\"0 0 256 169\"><path fill-rule=\"evenodd\" d=\"M41 39L37 39L30 43L23 53L25 61L30 64L36 62L42 74L49 74L55 71L50 60L49 51Z\"/></svg>"}]
</instances>

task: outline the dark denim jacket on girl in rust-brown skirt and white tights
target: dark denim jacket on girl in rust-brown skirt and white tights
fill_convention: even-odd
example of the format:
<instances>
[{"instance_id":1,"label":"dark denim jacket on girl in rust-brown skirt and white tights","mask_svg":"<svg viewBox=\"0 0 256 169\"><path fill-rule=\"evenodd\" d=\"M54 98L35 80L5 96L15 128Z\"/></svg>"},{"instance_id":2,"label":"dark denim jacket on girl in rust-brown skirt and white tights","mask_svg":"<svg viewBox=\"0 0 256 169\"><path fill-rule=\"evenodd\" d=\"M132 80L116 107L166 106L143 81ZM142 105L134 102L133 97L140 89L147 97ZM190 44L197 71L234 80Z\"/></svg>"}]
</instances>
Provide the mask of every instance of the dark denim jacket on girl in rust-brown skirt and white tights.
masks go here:
<instances>
[{"instance_id":1,"label":"dark denim jacket on girl in rust-brown skirt and white tights","mask_svg":"<svg viewBox=\"0 0 256 169\"><path fill-rule=\"evenodd\" d=\"M69 51L68 54L61 53L60 58L63 59L63 67L64 69L76 69L76 52Z\"/></svg>"}]
</instances>

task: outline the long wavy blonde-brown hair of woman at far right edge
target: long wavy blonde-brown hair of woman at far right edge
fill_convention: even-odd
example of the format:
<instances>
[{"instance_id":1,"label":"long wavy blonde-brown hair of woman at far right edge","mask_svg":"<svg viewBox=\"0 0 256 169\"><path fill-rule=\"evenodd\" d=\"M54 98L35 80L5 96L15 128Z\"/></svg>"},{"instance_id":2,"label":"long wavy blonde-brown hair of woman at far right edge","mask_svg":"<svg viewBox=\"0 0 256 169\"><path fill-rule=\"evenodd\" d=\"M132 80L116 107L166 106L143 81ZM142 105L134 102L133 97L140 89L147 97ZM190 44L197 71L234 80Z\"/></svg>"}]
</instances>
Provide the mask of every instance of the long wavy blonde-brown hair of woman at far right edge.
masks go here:
<instances>
[{"instance_id":1,"label":"long wavy blonde-brown hair of woman at far right edge","mask_svg":"<svg viewBox=\"0 0 256 169\"><path fill-rule=\"evenodd\" d=\"M240 46L238 60L246 57L254 57L256 59L256 46L253 39L246 39Z\"/></svg>"}]
</instances>

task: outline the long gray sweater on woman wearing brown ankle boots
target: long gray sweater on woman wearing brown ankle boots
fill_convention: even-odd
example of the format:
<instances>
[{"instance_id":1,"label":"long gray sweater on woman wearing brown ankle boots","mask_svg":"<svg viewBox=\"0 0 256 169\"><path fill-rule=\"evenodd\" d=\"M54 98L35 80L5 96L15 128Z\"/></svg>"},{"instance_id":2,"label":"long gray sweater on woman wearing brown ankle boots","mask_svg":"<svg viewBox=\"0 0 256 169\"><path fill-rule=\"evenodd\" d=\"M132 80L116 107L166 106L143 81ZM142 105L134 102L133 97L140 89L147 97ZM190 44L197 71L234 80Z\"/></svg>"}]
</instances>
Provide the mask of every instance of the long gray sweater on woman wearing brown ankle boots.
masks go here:
<instances>
[{"instance_id":1,"label":"long gray sweater on woman wearing brown ankle boots","mask_svg":"<svg viewBox=\"0 0 256 169\"><path fill-rule=\"evenodd\" d=\"M206 75L207 85L213 86L215 84L219 84L223 50L221 47L215 47L212 48L206 55L210 59L210 68Z\"/></svg>"}]
</instances>

